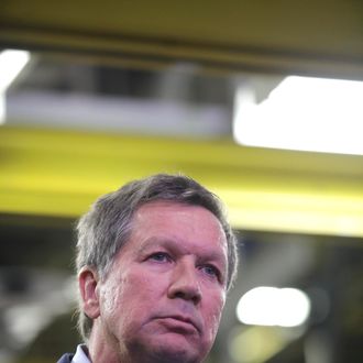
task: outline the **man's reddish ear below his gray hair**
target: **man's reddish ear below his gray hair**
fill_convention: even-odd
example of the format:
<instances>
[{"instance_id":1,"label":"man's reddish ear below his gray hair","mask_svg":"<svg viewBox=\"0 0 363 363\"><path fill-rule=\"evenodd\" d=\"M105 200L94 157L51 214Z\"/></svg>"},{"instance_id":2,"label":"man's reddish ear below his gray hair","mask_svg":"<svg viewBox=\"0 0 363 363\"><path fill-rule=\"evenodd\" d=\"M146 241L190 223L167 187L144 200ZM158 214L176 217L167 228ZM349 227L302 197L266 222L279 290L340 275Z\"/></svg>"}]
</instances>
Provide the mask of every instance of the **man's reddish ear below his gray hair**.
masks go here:
<instances>
[{"instance_id":1,"label":"man's reddish ear below his gray hair","mask_svg":"<svg viewBox=\"0 0 363 363\"><path fill-rule=\"evenodd\" d=\"M100 315L98 275L89 267L84 267L78 274L78 286L84 312L91 319Z\"/></svg>"}]
</instances>

